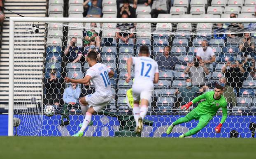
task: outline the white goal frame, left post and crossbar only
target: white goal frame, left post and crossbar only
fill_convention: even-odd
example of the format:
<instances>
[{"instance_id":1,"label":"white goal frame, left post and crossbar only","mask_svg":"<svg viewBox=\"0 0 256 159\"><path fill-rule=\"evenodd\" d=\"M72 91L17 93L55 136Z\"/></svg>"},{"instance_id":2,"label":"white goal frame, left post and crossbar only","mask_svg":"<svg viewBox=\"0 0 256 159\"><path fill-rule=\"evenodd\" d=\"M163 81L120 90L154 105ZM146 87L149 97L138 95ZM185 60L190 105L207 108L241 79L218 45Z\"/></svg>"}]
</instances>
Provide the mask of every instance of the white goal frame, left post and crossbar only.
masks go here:
<instances>
[{"instance_id":1,"label":"white goal frame, left post and crossbar only","mask_svg":"<svg viewBox=\"0 0 256 159\"><path fill-rule=\"evenodd\" d=\"M42 18L10 17L8 136L14 135L14 23L256 23L256 18Z\"/></svg>"}]
</instances>

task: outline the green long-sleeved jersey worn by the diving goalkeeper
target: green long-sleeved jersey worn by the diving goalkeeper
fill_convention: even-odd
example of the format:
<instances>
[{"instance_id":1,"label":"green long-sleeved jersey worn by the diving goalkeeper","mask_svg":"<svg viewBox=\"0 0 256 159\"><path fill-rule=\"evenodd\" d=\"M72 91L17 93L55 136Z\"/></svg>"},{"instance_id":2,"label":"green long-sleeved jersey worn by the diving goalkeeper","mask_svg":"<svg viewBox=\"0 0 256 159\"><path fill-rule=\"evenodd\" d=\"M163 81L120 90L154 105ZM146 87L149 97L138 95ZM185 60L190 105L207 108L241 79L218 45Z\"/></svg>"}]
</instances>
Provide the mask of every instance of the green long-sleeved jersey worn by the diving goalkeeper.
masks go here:
<instances>
[{"instance_id":1,"label":"green long-sleeved jersey worn by the diving goalkeeper","mask_svg":"<svg viewBox=\"0 0 256 159\"><path fill-rule=\"evenodd\" d=\"M228 111L227 111L227 102L226 99L221 95L221 98L216 100L214 99L214 91L206 92L195 99L192 100L193 104L196 102L201 101L198 106L195 108L200 114L207 114L207 115L216 115L219 108L222 108L223 117L221 119L221 123L225 122Z\"/></svg>"}]
</instances>

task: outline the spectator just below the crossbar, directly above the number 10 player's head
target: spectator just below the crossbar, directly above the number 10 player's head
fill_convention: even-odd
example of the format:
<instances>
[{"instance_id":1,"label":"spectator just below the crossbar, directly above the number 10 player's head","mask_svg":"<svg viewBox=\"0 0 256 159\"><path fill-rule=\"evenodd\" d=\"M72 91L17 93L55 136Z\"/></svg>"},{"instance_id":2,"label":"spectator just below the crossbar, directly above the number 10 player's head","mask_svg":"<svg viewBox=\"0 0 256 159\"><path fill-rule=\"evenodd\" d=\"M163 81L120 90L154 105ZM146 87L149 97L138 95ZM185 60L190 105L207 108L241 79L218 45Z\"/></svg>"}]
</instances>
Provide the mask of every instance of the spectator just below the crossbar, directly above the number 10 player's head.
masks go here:
<instances>
[{"instance_id":1,"label":"spectator just below the crossbar, directly above the number 10 player's head","mask_svg":"<svg viewBox=\"0 0 256 159\"><path fill-rule=\"evenodd\" d=\"M97 25L96 23L91 23L91 27L92 28L96 28ZM94 29L90 29L84 32L84 41L83 41L83 45L84 46L88 46L88 44L90 43L90 41L95 41L96 42L96 46L100 47L100 36L98 35L98 32L96 32Z\"/></svg>"}]
</instances>

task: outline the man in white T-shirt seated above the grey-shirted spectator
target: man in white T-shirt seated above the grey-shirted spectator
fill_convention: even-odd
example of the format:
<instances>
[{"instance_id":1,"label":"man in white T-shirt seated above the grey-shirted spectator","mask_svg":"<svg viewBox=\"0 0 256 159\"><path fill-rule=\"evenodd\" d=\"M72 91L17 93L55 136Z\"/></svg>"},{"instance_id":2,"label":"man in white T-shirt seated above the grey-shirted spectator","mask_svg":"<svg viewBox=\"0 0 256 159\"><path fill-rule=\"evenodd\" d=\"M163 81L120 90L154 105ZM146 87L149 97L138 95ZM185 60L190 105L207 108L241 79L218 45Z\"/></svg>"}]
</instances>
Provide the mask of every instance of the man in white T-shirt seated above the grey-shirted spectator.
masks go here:
<instances>
[{"instance_id":1,"label":"man in white T-shirt seated above the grey-shirted spectator","mask_svg":"<svg viewBox=\"0 0 256 159\"><path fill-rule=\"evenodd\" d=\"M202 41L202 47L198 48L196 56L197 58L200 58L200 62L205 62L205 64L211 64L215 62L215 54L212 51L212 48L209 47L208 41L203 40Z\"/></svg>"}]
</instances>

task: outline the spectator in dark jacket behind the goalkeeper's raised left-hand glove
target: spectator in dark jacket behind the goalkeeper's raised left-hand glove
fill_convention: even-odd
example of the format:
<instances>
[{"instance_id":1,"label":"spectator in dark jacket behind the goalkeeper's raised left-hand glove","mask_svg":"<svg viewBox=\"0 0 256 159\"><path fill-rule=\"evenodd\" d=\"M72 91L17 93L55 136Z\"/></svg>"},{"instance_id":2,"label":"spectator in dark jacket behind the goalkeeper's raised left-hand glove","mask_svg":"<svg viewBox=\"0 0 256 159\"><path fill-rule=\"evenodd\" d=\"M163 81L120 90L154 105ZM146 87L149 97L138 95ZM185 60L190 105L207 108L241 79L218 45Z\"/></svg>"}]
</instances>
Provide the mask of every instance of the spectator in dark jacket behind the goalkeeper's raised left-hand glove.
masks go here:
<instances>
[{"instance_id":1,"label":"spectator in dark jacket behind the goalkeeper's raised left-hand glove","mask_svg":"<svg viewBox=\"0 0 256 159\"><path fill-rule=\"evenodd\" d=\"M181 86L179 89L176 90L175 95L180 94L178 97L178 105L179 106L185 105L189 103L192 99L198 96L200 92L205 92L208 87L204 85L202 88L193 86L193 81L191 78L186 78L186 86Z\"/></svg>"}]
</instances>

